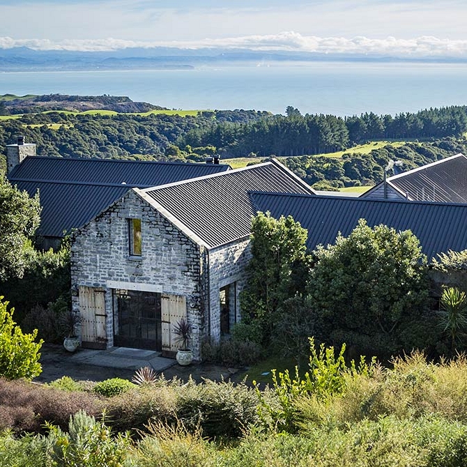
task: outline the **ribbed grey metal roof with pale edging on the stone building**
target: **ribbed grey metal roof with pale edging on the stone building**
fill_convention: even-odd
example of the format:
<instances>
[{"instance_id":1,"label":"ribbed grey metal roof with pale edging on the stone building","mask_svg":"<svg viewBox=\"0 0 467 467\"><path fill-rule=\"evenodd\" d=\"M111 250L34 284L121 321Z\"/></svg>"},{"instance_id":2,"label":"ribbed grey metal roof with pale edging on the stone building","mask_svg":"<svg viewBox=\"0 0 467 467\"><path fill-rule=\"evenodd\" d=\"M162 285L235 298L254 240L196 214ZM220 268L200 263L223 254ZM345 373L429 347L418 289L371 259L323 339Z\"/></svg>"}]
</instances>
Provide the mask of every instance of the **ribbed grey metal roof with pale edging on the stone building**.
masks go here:
<instances>
[{"instance_id":1,"label":"ribbed grey metal roof with pale edging on the stone building","mask_svg":"<svg viewBox=\"0 0 467 467\"><path fill-rule=\"evenodd\" d=\"M280 162L266 162L165 187L142 190L146 199L173 215L208 247L250 235L252 190L314 194Z\"/></svg>"}]
</instances>

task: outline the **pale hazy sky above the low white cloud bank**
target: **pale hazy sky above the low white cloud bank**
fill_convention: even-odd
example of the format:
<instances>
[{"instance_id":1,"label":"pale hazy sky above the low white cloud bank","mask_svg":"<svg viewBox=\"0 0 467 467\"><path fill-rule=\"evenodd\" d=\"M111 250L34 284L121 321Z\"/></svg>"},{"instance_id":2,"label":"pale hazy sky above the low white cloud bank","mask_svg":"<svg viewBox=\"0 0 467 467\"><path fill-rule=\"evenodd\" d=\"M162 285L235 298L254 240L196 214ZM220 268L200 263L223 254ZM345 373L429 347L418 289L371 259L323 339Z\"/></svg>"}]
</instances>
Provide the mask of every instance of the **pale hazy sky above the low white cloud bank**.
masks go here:
<instances>
[{"instance_id":1,"label":"pale hazy sky above the low white cloud bank","mask_svg":"<svg viewBox=\"0 0 467 467\"><path fill-rule=\"evenodd\" d=\"M270 36L436 36L462 40L460 0L3 0L1 33L63 41L109 37L146 42Z\"/></svg>"}]
</instances>

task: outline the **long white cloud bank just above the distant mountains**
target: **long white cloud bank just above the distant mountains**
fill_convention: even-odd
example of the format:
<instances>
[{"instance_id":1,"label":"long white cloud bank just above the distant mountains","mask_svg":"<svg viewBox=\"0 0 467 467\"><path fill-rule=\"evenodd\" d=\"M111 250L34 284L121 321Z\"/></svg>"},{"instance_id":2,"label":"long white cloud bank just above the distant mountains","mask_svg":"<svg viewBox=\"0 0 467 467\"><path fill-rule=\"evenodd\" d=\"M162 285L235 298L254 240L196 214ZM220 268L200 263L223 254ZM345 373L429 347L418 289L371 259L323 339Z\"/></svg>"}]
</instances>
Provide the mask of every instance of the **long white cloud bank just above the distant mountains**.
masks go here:
<instances>
[{"instance_id":1,"label":"long white cloud bank just above the distant mountains","mask_svg":"<svg viewBox=\"0 0 467 467\"><path fill-rule=\"evenodd\" d=\"M234 38L206 38L190 41L141 41L122 39L62 40L0 38L0 48L29 47L36 50L75 50L82 52L127 49L132 47L178 47L199 49L203 47L222 49L251 49L261 51L315 52L319 54L368 54L399 57L442 57L467 58L467 40L449 40L434 36L400 39L389 36L383 39L356 36L318 37L303 36L293 31L264 36L242 36Z\"/></svg>"}]
</instances>

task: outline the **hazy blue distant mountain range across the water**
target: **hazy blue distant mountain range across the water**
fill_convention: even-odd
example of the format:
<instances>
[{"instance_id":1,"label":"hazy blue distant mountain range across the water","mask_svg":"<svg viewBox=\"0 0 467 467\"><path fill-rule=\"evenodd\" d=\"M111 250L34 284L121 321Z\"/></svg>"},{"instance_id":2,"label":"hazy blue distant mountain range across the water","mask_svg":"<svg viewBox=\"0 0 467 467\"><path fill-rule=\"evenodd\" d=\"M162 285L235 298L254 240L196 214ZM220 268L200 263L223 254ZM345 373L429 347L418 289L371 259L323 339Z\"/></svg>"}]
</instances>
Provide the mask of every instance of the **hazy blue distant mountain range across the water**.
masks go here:
<instances>
[{"instance_id":1,"label":"hazy blue distant mountain range across the water","mask_svg":"<svg viewBox=\"0 0 467 467\"><path fill-rule=\"evenodd\" d=\"M261 52L250 49L180 49L175 47L127 48L109 52L34 50L27 47L0 49L0 72L40 70L178 69L197 66L262 64L273 61L432 61L459 59L400 59L390 56L318 54L312 52Z\"/></svg>"}]
</instances>

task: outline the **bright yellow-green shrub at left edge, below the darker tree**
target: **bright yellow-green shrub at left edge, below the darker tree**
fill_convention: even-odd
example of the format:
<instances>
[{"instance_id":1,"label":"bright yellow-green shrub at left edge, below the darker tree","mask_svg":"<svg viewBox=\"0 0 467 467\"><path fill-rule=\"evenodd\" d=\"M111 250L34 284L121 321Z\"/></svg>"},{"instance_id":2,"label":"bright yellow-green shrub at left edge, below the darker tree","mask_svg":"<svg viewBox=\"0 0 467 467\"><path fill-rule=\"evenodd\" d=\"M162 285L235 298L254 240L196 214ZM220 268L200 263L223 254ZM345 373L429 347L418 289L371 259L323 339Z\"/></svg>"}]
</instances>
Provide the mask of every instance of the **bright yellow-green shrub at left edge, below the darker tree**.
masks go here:
<instances>
[{"instance_id":1,"label":"bright yellow-green shrub at left edge, below the darker tree","mask_svg":"<svg viewBox=\"0 0 467 467\"><path fill-rule=\"evenodd\" d=\"M34 342L37 330L23 334L13 321L13 308L8 312L8 302L0 296L0 377L7 379L32 379L42 372L38 362L43 341Z\"/></svg>"}]
</instances>

